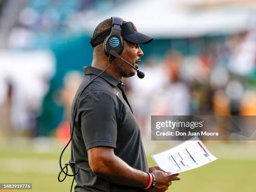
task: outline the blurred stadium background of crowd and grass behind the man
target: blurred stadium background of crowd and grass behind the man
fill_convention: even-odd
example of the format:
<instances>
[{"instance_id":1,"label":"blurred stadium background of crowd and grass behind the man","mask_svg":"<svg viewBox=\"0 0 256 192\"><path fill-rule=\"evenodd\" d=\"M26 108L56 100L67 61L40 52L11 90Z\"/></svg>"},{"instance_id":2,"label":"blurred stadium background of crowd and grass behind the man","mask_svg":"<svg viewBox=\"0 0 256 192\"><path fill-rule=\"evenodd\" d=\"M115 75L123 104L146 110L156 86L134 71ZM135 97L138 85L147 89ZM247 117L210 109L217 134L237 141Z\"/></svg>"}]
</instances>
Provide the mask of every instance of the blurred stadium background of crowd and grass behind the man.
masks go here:
<instances>
[{"instance_id":1,"label":"blurred stadium background of crowd and grass behind the man","mask_svg":"<svg viewBox=\"0 0 256 192\"><path fill-rule=\"evenodd\" d=\"M256 115L256 0L0 0L1 183L69 191L72 178L57 180L69 111L94 28L112 16L154 37L141 45L145 78L122 79L150 166L179 143L151 141L151 115ZM255 191L255 141L205 145L218 160L169 191Z\"/></svg>"}]
</instances>

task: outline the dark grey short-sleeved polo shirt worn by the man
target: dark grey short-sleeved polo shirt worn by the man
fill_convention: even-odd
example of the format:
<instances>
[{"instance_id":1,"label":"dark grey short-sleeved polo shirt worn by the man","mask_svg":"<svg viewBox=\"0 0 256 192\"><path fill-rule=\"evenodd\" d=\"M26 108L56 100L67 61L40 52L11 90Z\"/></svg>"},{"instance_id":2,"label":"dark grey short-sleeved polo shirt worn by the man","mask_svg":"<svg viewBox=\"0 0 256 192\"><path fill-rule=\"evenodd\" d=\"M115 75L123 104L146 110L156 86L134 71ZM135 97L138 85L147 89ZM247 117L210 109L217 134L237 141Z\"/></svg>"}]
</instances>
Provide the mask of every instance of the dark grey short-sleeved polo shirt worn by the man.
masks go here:
<instances>
[{"instance_id":1,"label":"dark grey short-sleeved polo shirt worn by the man","mask_svg":"<svg viewBox=\"0 0 256 192\"><path fill-rule=\"evenodd\" d=\"M84 67L84 78L74 98L71 109L71 126L74 105L82 87L102 70ZM116 156L128 165L148 172L141 131L124 93L125 84L104 72L80 96L72 138L71 160L79 167L75 179L75 192L138 192L139 188L108 182L92 172L87 150L96 146L114 148ZM113 170L115 172L116 170ZM73 170L74 172L74 170Z\"/></svg>"}]
</instances>

